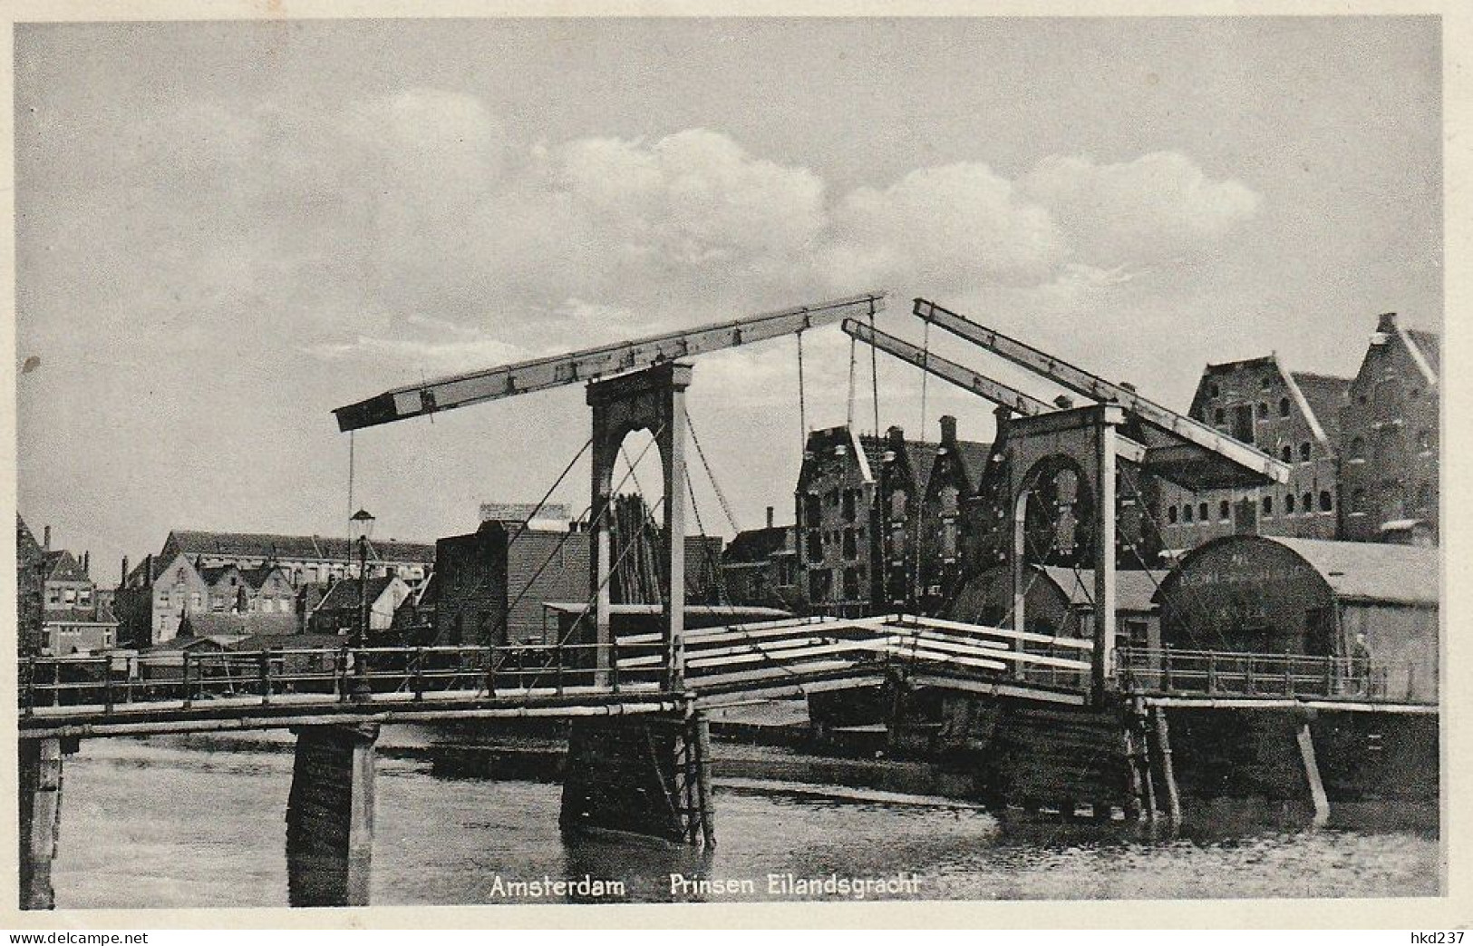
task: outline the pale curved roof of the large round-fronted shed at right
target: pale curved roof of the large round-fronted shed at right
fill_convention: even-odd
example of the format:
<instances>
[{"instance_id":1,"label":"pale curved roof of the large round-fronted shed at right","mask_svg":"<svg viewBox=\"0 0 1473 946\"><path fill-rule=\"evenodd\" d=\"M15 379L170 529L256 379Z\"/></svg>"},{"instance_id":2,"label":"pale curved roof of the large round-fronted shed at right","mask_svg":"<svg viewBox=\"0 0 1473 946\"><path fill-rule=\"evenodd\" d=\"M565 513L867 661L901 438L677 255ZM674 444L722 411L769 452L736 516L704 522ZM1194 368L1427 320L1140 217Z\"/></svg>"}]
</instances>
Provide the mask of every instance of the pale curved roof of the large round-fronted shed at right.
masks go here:
<instances>
[{"instance_id":1,"label":"pale curved roof of the large round-fronted shed at right","mask_svg":"<svg viewBox=\"0 0 1473 946\"><path fill-rule=\"evenodd\" d=\"M1385 542L1332 542L1258 536L1279 542L1324 576L1336 597L1436 607L1442 554L1436 548Z\"/></svg>"}]
</instances>

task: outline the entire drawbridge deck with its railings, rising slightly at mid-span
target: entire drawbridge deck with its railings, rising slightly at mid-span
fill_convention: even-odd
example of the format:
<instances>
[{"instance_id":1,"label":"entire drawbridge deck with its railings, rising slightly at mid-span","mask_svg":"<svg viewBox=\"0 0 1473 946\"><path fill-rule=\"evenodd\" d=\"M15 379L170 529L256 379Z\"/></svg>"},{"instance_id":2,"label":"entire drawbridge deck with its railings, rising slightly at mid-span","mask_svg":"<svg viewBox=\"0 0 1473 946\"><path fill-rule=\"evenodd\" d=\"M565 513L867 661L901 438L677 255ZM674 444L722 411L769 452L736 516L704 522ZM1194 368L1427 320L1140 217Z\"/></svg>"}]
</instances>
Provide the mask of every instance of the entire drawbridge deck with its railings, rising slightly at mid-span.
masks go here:
<instances>
[{"instance_id":1,"label":"entire drawbridge deck with its railings, rising slightly at mid-span","mask_svg":"<svg viewBox=\"0 0 1473 946\"><path fill-rule=\"evenodd\" d=\"M616 641L611 669L577 645L284 648L32 659L21 735L273 728L343 719L476 719L675 712L878 687L1090 698L1090 641L932 617L792 619L689 631L683 691L666 684L658 635ZM1114 679L1147 703L1436 712L1426 675L1308 654L1121 650Z\"/></svg>"}]
</instances>

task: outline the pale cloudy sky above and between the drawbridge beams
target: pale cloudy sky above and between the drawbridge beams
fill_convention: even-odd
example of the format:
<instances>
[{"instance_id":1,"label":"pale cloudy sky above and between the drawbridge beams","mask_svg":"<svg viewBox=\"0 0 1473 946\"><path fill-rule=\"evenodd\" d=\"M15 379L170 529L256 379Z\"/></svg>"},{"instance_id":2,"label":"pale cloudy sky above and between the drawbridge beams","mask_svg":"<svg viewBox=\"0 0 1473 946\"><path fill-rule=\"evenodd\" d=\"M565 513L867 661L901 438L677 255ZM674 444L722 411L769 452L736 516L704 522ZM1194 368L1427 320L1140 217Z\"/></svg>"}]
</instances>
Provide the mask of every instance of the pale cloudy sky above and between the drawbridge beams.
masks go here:
<instances>
[{"instance_id":1,"label":"pale cloudy sky above and between the drawbridge beams","mask_svg":"<svg viewBox=\"0 0 1473 946\"><path fill-rule=\"evenodd\" d=\"M169 529L345 535L331 408L426 377L872 289L1186 410L1206 362L1355 373L1442 324L1435 18L19 25L18 500L99 581ZM993 435L991 405L804 337L809 427ZM795 345L695 362L735 525L792 520ZM376 538L536 501L564 388L354 438ZM630 451L638 446L630 442ZM695 466L707 532L732 533ZM648 469L647 469L648 467ZM641 488L658 495L653 455ZM554 500L588 504L586 458Z\"/></svg>"}]
</instances>

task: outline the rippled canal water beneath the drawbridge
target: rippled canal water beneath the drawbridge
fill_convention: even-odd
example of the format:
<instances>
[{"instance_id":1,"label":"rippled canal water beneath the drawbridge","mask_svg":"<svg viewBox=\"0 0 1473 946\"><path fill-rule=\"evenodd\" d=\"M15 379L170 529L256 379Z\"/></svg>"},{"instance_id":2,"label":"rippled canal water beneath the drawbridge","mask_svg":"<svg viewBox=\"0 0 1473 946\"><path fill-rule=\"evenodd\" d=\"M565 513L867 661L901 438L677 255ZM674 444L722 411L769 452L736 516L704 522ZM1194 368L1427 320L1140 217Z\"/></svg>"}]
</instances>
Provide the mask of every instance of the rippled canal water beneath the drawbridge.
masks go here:
<instances>
[{"instance_id":1,"label":"rippled canal water beneath the drawbridge","mask_svg":"<svg viewBox=\"0 0 1473 946\"><path fill-rule=\"evenodd\" d=\"M65 769L57 908L287 905L290 778L286 741L84 741ZM1441 874L1432 834L1146 841L1118 827L1019 828L971 806L720 782L717 847L701 859L641 843L564 843L557 784L442 778L393 753L379 759L376 790L376 905L851 899L837 878L910 881L868 899L1383 897L1433 896ZM711 884L672 893L670 874ZM785 893L790 874L829 889ZM585 877L623 890L557 894L546 884Z\"/></svg>"}]
</instances>

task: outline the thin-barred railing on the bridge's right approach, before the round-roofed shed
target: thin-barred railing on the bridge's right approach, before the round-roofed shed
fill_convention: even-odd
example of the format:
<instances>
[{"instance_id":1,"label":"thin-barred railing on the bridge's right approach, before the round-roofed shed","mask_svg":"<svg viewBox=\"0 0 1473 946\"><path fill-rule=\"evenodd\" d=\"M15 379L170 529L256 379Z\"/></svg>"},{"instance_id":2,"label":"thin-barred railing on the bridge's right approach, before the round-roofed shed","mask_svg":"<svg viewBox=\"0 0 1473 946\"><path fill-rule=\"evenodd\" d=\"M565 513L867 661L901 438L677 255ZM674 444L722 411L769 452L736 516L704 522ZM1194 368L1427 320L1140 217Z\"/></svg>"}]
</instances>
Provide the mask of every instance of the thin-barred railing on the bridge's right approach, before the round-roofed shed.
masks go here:
<instances>
[{"instance_id":1,"label":"thin-barred railing on the bridge's right approach, before the round-roofed shed","mask_svg":"<svg viewBox=\"0 0 1473 946\"><path fill-rule=\"evenodd\" d=\"M1136 647L1115 651L1115 672L1124 690L1167 696L1436 701L1432 672L1414 660Z\"/></svg>"}]
</instances>

